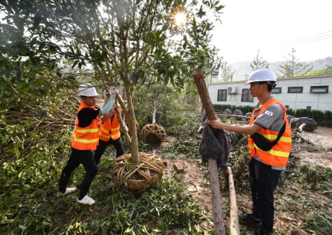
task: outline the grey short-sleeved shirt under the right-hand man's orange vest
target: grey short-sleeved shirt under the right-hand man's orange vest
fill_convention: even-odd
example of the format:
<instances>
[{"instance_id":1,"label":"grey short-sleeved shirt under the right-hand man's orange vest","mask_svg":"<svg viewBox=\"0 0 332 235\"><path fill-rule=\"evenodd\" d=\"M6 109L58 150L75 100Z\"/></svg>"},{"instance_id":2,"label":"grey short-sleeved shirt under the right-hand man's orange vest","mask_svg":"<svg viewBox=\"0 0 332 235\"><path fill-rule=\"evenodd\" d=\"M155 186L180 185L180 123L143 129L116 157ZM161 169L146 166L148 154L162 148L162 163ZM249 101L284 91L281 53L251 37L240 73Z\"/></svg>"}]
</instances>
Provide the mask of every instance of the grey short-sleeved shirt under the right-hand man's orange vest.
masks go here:
<instances>
[{"instance_id":1,"label":"grey short-sleeved shirt under the right-hand man's orange vest","mask_svg":"<svg viewBox=\"0 0 332 235\"><path fill-rule=\"evenodd\" d=\"M270 100L271 98L274 98L274 96L271 96L268 100ZM284 125L284 110L282 110L281 105L272 104L266 107L266 110L263 110L263 112L261 112L258 117L257 114L259 113L259 110L261 110L261 104L259 103L259 101L255 105L255 108L257 109L254 112L256 118L254 123L256 125L260 125L262 128L266 130L272 130L274 132L279 132L280 129L282 129L282 125ZM257 155L255 156L255 159L261 162L261 159L259 159ZM285 166L271 166L271 168L278 171L284 171L286 169Z\"/></svg>"}]
</instances>

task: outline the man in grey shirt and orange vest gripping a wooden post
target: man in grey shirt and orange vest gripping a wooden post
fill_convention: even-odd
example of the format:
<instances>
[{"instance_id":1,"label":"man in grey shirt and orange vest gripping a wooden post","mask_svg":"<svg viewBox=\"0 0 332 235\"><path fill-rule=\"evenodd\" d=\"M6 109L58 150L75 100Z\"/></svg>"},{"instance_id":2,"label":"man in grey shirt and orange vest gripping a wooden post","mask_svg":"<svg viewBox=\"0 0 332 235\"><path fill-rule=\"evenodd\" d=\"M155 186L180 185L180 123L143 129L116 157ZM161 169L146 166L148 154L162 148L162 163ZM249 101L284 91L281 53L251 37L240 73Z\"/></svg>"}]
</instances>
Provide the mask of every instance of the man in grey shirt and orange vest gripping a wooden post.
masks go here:
<instances>
[{"instance_id":1,"label":"man in grey shirt and orange vest gripping a wooden post","mask_svg":"<svg viewBox=\"0 0 332 235\"><path fill-rule=\"evenodd\" d=\"M245 224L259 225L255 235L268 235L273 230L273 192L291 153L291 128L286 118L286 107L271 96L275 82L275 73L270 69L256 69L250 74L246 85L250 85L250 94L259 101L252 112L250 125L232 126L219 119L209 121L213 128L250 135L252 214L243 214L239 219Z\"/></svg>"}]
</instances>

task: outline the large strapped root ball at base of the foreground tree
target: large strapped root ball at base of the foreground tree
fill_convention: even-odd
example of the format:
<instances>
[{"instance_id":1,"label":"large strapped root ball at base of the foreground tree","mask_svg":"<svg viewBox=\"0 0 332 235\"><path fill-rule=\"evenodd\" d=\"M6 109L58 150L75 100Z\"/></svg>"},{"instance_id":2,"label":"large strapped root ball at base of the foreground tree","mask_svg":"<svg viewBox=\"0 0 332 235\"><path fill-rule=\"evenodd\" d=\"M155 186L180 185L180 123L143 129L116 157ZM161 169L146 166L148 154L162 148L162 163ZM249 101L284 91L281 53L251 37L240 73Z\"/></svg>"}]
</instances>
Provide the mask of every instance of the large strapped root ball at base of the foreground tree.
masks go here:
<instances>
[{"instance_id":1,"label":"large strapped root ball at base of the foreground tree","mask_svg":"<svg viewBox=\"0 0 332 235\"><path fill-rule=\"evenodd\" d=\"M163 177L165 167L154 153L138 153L140 164L131 163L131 155L122 155L111 167L112 182L117 186L126 186L133 192L144 191L157 184Z\"/></svg>"}]
</instances>

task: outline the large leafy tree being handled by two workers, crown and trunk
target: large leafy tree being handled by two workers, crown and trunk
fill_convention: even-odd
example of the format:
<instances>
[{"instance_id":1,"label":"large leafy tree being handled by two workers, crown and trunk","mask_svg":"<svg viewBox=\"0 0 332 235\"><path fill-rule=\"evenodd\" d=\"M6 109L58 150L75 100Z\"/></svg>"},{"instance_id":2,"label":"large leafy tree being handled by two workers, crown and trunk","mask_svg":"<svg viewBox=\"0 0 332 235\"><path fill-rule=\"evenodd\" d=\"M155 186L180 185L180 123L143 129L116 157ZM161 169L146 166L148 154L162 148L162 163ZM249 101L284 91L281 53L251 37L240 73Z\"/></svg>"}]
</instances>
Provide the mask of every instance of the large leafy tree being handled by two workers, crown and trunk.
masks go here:
<instances>
[{"instance_id":1,"label":"large leafy tree being handled by two workers, crown and trunk","mask_svg":"<svg viewBox=\"0 0 332 235\"><path fill-rule=\"evenodd\" d=\"M136 128L132 97L137 85L171 83L182 89L192 69L210 68L208 61L216 54L210 31L223 8L215 0L5 0L0 4L7 23L0 25L1 62L30 60L37 67L57 69L57 62L66 58L73 61L73 68L93 68L91 80L104 87L125 87L128 107L118 101L129 130ZM178 15L185 20L176 21ZM15 70L20 70L19 64ZM61 69L57 76L62 78ZM131 161L139 163L135 131L128 144Z\"/></svg>"}]
</instances>

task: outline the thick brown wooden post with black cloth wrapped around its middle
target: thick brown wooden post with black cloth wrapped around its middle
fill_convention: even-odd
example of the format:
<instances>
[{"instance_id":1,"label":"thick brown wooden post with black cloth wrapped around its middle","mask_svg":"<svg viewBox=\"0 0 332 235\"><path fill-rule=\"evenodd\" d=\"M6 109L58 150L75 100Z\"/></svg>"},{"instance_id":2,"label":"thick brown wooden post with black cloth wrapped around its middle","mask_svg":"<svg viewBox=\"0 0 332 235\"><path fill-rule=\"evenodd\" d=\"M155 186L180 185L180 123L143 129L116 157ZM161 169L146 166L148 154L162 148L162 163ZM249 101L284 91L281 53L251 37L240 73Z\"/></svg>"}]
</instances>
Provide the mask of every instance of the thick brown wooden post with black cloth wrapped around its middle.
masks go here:
<instances>
[{"instance_id":1,"label":"thick brown wooden post with black cloth wrapped around its middle","mask_svg":"<svg viewBox=\"0 0 332 235\"><path fill-rule=\"evenodd\" d=\"M211 103L208 89L206 88L203 69L195 69L192 71L194 82L201 97L205 114L208 120L216 120L216 114L214 114L213 106ZM213 129L212 129L213 130ZM216 167L216 159L209 159L209 171L210 171L210 185L212 191L212 213L214 223L214 234L225 235L225 225L223 224L223 209L221 208L221 194L218 178L218 169Z\"/></svg>"}]
</instances>

